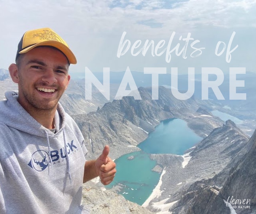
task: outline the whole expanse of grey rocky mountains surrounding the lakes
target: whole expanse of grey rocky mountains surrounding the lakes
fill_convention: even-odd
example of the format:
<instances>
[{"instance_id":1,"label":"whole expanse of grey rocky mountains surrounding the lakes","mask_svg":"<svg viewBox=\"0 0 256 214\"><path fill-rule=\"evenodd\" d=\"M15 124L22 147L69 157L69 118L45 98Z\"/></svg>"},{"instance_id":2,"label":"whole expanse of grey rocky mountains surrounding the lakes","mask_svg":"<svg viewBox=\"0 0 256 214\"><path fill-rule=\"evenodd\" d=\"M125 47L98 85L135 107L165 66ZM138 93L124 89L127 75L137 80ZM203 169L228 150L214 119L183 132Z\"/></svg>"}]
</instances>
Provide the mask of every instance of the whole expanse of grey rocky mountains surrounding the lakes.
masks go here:
<instances>
[{"instance_id":1,"label":"whole expanse of grey rocky mountains surrounding the lakes","mask_svg":"<svg viewBox=\"0 0 256 214\"><path fill-rule=\"evenodd\" d=\"M0 70L0 96L3 99L4 91L17 89L6 73ZM254 127L254 118L248 119L255 111L251 105L246 106L246 114L242 114L245 112L240 108L243 105L232 105L235 116L241 115L240 118L246 121L239 126L242 131L234 122L228 120L223 123L210 112L214 108L228 112L230 109L225 108L227 103L203 101L196 94L188 100L177 100L171 89L162 86L159 87L158 100L152 100L151 87L140 87L138 90L142 100L127 96L122 100L106 102L94 88L94 97L89 102L84 100L83 81L71 81L61 102L84 135L88 159L97 157L106 144L110 145L113 159L138 151L137 145L148 137L161 120L169 118L185 120L188 127L203 138L183 156L151 154L158 164L162 184L159 186L160 193L150 198L143 207L151 212L173 214L256 213L256 133L251 138L244 133L244 130ZM112 99L117 88L118 85L113 85ZM84 195L83 203L95 209L95 213L99 209L103 210L102 213L114 213L113 210L120 203L126 203L120 196L104 190L97 181L90 181L86 185L89 186L84 192L87 189L93 191L90 192L91 196ZM106 195L110 194L111 199L106 197L104 203L96 202L94 197L104 194L99 190L107 191ZM250 209L232 208L231 197L250 199ZM146 209L135 208L133 204L129 204L126 210L124 213L147 212Z\"/></svg>"}]
</instances>

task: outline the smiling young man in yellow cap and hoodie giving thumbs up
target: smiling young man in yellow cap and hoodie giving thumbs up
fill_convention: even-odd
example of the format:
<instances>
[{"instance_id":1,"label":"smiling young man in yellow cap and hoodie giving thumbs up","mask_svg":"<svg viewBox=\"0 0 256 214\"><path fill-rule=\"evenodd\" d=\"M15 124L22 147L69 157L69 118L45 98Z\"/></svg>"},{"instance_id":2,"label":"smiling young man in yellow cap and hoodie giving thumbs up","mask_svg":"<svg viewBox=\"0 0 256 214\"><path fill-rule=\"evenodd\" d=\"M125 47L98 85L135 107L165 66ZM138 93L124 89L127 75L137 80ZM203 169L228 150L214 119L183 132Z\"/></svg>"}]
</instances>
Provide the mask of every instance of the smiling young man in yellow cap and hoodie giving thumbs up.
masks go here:
<instances>
[{"instance_id":1,"label":"smiling young man in yellow cap and hoodie giving thumbs up","mask_svg":"<svg viewBox=\"0 0 256 214\"><path fill-rule=\"evenodd\" d=\"M86 161L81 131L58 102L70 63L74 54L52 29L27 31L18 44L9 67L18 93L0 102L0 213L89 213L82 183L114 178L109 147Z\"/></svg>"}]
</instances>

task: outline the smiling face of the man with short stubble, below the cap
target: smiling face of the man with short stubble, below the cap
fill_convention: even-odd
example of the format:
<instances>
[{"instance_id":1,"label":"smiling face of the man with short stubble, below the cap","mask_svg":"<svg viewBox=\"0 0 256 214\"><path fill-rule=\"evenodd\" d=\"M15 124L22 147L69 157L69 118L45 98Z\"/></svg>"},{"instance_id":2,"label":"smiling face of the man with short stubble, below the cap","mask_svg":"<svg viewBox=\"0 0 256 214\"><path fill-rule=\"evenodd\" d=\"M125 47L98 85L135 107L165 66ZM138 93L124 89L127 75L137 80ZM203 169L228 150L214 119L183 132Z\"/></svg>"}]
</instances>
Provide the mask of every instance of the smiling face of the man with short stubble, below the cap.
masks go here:
<instances>
[{"instance_id":1,"label":"smiling face of the man with short stubble, below the cap","mask_svg":"<svg viewBox=\"0 0 256 214\"><path fill-rule=\"evenodd\" d=\"M22 54L18 66L18 102L26 109L53 110L70 76L65 55L51 47L36 47Z\"/></svg>"}]
</instances>

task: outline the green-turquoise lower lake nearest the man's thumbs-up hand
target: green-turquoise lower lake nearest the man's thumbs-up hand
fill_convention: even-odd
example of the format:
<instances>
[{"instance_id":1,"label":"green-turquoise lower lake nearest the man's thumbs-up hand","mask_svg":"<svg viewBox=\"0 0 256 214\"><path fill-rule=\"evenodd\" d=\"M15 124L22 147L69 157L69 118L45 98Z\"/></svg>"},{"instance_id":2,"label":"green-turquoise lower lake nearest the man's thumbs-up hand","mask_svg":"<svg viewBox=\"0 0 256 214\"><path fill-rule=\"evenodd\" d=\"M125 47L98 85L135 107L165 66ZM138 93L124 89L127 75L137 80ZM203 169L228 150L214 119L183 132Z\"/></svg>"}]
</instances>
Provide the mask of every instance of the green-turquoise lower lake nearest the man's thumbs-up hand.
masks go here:
<instances>
[{"instance_id":1,"label":"green-turquoise lower lake nearest the man's thumbs-up hand","mask_svg":"<svg viewBox=\"0 0 256 214\"><path fill-rule=\"evenodd\" d=\"M128 159L130 157L130 159ZM160 173L152 171L156 161L142 151L125 154L115 160L117 173L108 188L121 186L127 200L142 205L158 184Z\"/></svg>"}]
</instances>

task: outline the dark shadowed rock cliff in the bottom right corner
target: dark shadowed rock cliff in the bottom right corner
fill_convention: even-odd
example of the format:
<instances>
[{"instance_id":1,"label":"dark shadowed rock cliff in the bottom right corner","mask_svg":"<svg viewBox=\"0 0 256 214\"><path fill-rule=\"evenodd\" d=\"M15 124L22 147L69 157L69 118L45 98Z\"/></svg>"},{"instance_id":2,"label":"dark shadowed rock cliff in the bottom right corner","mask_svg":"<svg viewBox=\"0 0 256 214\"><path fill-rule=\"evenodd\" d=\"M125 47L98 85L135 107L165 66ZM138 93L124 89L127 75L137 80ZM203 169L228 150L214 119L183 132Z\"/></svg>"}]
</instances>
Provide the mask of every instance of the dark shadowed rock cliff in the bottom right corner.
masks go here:
<instances>
[{"instance_id":1,"label":"dark shadowed rock cliff in the bottom right corner","mask_svg":"<svg viewBox=\"0 0 256 214\"><path fill-rule=\"evenodd\" d=\"M173 213L256 213L255 148L256 131L244 148L237 150L232 161L213 179L191 185L177 208L172 208ZM220 187L211 186L216 181ZM180 209L178 205L183 207Z\"/></svg>"}]
</instances>

